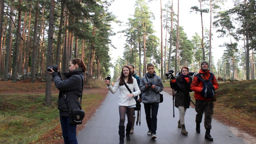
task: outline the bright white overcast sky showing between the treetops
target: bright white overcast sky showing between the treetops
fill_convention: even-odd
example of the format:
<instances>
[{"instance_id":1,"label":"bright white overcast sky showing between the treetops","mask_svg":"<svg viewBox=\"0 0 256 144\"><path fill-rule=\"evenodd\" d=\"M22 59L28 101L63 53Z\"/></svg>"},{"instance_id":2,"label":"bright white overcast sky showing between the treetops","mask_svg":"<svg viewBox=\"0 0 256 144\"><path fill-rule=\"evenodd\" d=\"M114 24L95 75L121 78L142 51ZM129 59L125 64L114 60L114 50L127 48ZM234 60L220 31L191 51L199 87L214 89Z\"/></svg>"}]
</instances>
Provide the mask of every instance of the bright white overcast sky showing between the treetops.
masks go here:
<instances>
[{"instance_id":1,"label":"bright white overcast sky showing between the treetops","mask_svg":"<svg viewBox=\"0 0 256 144\"><path fill-rule=\"evenodd\" d=\"M109 7L109 12L112 12L114 15L117 16L117 19L122 21L122 26L118 26L115 23L112 23L112 28L114 32L118 32L120 30L124 30L125 23L128 22L128 18L132 17L134 14L134 5L136 0L115 0L114 3L111 4ZM145 0L146 2L148 0ZM164 4L167 3L168 0L162 0L162 8L164 8ZM178 1L173 0L173 9L174 12L178 13ZM149 9L151 12L154 13L155 20L152 20L154 25L154 30L156 31L155 35L159 37L161 40L161 19L160 19L160 0L154 0L148 4ZM184 32L187 34L188 39L192 39L192 36L195 35L197 32L199 36L202 36L202 27L201 27L201 16L199 13L189 13L190 7L192 6L198 6L199 2L198 0L180 0L179 4L179 25L183 26ZM231 3L231 0L228 0L228 3L225 4L225 9L229 9L232 7L233 4ZM164 13L163 13L164 15ZM210 29L210 15L209 14L203 14L203 24L204 28ZM213 40L212 40L212 56L214 59L215 65L217 64L217 60L220 59L220 57L223 54L223 48L219 47L220 44L223 44L224 42L228 42L229 40L227 38L218 38L218 34L215 33L215 29L212 28L212 34L213 34ZM168 34L167 34L168 38ZM163 28L163 46L165 44L165 30ZM124 44L126 37L124 34L116 34L116 36L111 37L112 44L117 49L111 49L110 50L110 57L112 58L112 63L114 63L117 60L117 57L123 56L124 51ZM111 75L113 71L111 72Z\"/></svg>"}]
</instances>

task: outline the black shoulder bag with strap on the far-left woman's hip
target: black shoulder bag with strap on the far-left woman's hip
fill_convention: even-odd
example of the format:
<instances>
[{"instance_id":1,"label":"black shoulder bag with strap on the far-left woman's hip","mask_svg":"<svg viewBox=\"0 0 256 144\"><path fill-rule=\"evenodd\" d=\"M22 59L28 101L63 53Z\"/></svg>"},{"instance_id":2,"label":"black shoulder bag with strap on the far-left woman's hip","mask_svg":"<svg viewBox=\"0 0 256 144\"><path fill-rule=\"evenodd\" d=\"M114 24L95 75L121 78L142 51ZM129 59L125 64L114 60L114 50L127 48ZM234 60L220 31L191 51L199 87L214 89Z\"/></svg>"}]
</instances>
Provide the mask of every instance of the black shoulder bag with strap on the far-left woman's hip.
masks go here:
<instances>
[{"instance_id":1,"label":"black shoulder bag with strap on the far-left woman's hip","mask_svg":"<svg viewBox=\"0 0 256 144\"><path fill-rule=\"evenodd\" d=\"M79 75L80 76L80 75ZM83 123L83 119L84 119L84 110L82 109L82 96L83 96L83 88L84 88L84 81L82 76L80 76L82 79L82 94L80 97L80 109L69 109L68 104L67 104L67 99L66 96L64 95L64 100L66 102L66 106L68 108L69 111L69 123L70 124L82 124Z\"/></svg>"}]
</instances>

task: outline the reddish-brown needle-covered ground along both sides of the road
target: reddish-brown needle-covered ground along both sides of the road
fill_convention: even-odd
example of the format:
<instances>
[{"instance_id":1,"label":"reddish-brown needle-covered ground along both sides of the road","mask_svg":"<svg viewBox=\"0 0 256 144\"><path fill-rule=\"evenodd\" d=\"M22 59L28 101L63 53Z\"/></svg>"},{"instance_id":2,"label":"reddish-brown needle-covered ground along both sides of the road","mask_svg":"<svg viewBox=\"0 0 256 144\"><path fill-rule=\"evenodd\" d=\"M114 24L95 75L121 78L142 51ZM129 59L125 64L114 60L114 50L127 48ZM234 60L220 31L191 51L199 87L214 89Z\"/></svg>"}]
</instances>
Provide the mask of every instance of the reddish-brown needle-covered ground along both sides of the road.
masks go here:
<instances>
[{"instance_id":1,"label":"reddish-brown needle-covered ground along both sides of the road","mask_svg":"<svg viewBox=\"0 0 256 144\"><path fill-rule=\"evenodd\" d=\"M256 81L254 81L255 83ZM101 82L97 82L98 84ZM95 84L95 83L94 83ZM87 115L84 117L83 124L77 125L77 132L85 128L85 124L94 116L94 113L96 110L100 107L101 103L105 100L108 89L106 88L105 84L99 84L100 86L97 86L98 88L92 88L89 85L85 85L83 95L86 96L88 94L94 94L97 93L98 95L102 95L102 99L97 100L97 103L90 108L87 109ZM164 91L172 95L172 89L170 86L165 86ZM223 90L225 91L225 90ZM31 83L30 80L21 80L17 83L11 83L11 81L8 82L0 82L0 94L44 94L45 93L45 83L39 82L36 80L35 83ZM52 94L58 94L59 91L56 89L54 84L52 84ZM219 92L221 93L221 91ZM253 94L252 94L253 95ZM191 97L193 98L193 93L191 94ZM253 98L255 96L253 95ZM255 99L255 98L254 98ZM255 99L256 100L256 99ZM255 104L255 100L251 101ZM195 100L193 100L195 102ZM245 104L246 105L246 104ZM193 104L191 104L191 107L194 107ZM229 126L230 130L245 140L248 140L249 143L255 143L256 142L256 128L255 128L255 112L254 115L252 114L244 114L245 111L241 112L240 110L243 108L236 108L235 110L229 110L230 107L223 104L221 97L219 98L219 101L217 100L214 104L214 114L213 119L216 121ZM242 117L241 117L242 114ZM232 116L231 116L232 115ZM58 120L57 120L58 122ZM43 133L40 135L40 138L36 141L32 141L31 143L64 143L62 139L62 133L61 133L61 126L60 124L57 124L52 130Z\"/></svg>"}]
</instances>

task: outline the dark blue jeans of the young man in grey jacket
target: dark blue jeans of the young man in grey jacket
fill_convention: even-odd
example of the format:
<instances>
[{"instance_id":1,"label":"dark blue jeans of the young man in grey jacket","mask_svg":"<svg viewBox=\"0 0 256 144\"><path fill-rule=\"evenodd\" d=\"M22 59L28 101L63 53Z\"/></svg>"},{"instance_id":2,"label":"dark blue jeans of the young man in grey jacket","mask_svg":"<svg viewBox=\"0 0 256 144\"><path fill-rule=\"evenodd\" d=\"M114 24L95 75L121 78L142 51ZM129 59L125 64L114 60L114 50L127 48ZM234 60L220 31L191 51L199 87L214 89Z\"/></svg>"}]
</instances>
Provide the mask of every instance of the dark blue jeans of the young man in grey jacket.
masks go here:
<instances>
[{"instance_id":1,"label":"dark blue jeans of the young man in grey jacket","mask_svg":"<svg viewBox=\"0 0 256 144\"><path fill-rule=\"evenodd\" d=\"M148 129L151 130L151 133L156 134L157 128L157 112L158 112L159 103L144 103L144 109L146 113L146 121L148 124Z\"/></svg>"}]
</instances>

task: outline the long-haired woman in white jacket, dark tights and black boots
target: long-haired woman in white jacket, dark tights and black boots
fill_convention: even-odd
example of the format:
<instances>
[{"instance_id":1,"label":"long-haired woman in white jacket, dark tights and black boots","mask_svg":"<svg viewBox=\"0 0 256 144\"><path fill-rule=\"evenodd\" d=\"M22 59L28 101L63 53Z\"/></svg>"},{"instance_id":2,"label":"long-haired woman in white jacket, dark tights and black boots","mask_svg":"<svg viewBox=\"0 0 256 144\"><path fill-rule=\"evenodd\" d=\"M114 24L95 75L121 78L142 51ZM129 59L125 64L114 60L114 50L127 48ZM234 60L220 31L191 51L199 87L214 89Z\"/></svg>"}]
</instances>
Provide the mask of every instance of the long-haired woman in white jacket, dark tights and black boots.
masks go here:
<instances>
[{"instance_id":1,"label":"long-haired woman in white jacket, dark tights and black boots","mask_svg":"<svg viewBox=\"0 0 256 144\"><path fill-rule=\"evenodd\" d=\"M128 123L126 125L126 140L131 140L130 137L130 131L132 129L132 117L134 113L134 109L136 107L136 101L134 99L135 96L140 94L140 88L137 84L137 80L132 77L131 70L128 66L124 66L122 68L121 77L117 79L116 84L112 87L109 83L109 80L105 80L105 83L107 84L107 88L110 92L113 94L116 93L116 91L119 88L120 95L118 100L119 105L119 144L124 143L124 122L125 122L125 113L127 112L127 119ZM130 93L129 90L126 88L126 86L130 89L130 91L135 90L135 92Z\"/></svg>"}]
</instances>

